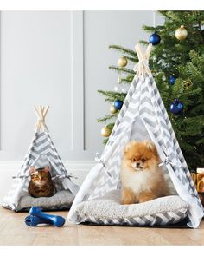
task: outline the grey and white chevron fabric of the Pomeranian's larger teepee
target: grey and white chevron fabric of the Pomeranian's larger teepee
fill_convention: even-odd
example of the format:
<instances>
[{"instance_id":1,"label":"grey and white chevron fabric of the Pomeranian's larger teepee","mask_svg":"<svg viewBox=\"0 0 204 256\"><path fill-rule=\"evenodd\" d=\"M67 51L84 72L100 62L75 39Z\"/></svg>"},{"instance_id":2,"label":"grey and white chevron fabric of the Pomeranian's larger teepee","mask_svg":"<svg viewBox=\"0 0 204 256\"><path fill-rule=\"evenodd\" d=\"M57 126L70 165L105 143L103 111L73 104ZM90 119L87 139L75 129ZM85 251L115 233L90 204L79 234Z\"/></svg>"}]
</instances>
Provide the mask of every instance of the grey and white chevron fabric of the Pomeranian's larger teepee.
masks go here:
<instances>
[{"instance_id":1,"label":"grey and white chevron fabric of the Pomeranian's larger teepee","mask_svg":"<svg viewBox=\"0 0 204 256\"><path fill-rule=\"evenodd\" d=\"M133 79L100 162L92 168L80 187L68 220L77 223L78 213L74 209L81 201L99 198L119 187L123 148L126 142L133 140L151 140L156 144L177 193L188 202L188 226L199 226L203 217L201 200L152 75L145 75L143 79L136 75ZM167 158L169 161L166 161ZM125 223L132 224L134 221Z\"/></svg>"}]
</instances>

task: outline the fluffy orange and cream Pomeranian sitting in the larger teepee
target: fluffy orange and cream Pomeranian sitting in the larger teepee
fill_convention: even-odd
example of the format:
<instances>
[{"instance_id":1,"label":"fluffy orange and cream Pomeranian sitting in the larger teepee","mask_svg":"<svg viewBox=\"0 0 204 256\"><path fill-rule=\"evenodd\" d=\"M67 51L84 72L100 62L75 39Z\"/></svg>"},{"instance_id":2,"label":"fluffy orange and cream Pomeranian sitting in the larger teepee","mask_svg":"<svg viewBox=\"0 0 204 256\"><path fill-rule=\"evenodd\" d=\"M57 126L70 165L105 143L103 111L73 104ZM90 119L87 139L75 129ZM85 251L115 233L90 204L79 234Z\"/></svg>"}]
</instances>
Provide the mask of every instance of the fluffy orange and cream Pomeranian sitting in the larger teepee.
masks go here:
<instances>
[{"instance_id":1,"label":"fluffy orange and cream Pomeranian sitting in the larger teepee","mask_svg":"<svg viewBox=\"0 0 204 256\"><path fill-rule=\"evenodd\" d=\"M124 148L121 203L135 204L169 195L161 162L152 141L131 141Z\"/></svg>"}]
</instances>

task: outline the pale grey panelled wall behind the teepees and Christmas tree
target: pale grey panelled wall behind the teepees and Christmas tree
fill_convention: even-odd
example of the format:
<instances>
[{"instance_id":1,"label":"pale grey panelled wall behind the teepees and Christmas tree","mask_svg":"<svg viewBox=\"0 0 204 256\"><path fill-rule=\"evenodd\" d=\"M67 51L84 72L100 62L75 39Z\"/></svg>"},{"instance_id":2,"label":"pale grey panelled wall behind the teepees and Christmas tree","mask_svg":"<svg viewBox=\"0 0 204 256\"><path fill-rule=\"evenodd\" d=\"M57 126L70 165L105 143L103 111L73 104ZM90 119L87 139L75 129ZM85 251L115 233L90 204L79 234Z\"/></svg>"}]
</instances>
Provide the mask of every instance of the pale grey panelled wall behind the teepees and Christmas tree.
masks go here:
<instances>
[{"instance_id":1,"label":"pale grey panelled wall behind the teepees and Christmas tree","mask_svg":"<svg viewBox=\"0 0 204 256\"><path fill-rule=\"evenodd\" d=\"M81 173L102 152L97 118L109 114L109 104L97 89L117 84L108 66L120 56L108 46L134 49L149 36L143 24L153 24L152 11L2 11L1 190L10 186L3 172L16 174L33 137L35 104L50 106L50 135L71 171L82 161Z\"/></svg>"}]
</instances>

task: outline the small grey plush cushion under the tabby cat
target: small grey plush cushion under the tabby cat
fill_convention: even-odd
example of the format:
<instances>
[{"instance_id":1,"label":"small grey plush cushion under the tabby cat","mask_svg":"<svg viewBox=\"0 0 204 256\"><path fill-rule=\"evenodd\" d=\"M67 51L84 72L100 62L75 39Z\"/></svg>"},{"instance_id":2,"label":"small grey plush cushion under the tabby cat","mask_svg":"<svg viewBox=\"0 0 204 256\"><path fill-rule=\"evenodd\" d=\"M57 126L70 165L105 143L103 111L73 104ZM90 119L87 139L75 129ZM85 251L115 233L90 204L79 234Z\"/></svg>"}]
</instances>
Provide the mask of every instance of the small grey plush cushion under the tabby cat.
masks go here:
<instances>
[{"instance_id":1,"label":"small grey plush cushion under the tabby cat","mask_svg":"<svg viewBox=\"0 0 204 256\"><path fill-rule=\"evenodd\" d=\"M26 194L20 199L17 211L29 210L30 207L41 207L44 210L69 209L73 199L73 194L67 190L59 191L51 197L34 198Z\"/></svg>"}]
</instances>

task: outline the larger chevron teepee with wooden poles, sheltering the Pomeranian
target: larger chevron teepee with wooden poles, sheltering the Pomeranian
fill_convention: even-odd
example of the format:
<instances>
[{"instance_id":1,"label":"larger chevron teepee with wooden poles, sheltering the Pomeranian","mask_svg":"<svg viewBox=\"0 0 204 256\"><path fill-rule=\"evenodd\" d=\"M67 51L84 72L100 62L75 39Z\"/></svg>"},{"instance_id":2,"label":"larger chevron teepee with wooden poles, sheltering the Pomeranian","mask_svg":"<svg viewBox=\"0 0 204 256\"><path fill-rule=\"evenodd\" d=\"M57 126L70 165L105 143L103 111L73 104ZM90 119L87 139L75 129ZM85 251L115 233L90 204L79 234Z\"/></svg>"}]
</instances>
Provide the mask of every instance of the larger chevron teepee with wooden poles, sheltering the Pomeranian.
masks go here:
<instances>
[{"instance_id":1,"label":"larger chevron teepee with wooden poles, sheltering the Pomeranian","mask_svg":"<svg viewBox=\"0 0 204 256\"><path fill-rule=\"evenodd\" d=\"M188 166L176 140L169 116L149 69L148 61L151 47L152 45L149 44L145 54L143 54L140 46L138 44L136 46L139 59L135 68L137 73L131 83L105 150L100 158L96 158L98 163L92 167L73 201L67 218L74 224L88 221L103 225L137 226L142 224L142 226L145 226L147 224L153 226L156 224L163 226L169 223L169 219L174 222L176 216L181 215L181 212L160 213L155 219L149 215L148 218L138 217L124 220L121 216L117 217L115 208L114 213L112 213L114 216L112 220L110 216L102 220L101 216L109 212L111 205L106 207L103 213L101 212L101 216L98 219L93 216L96 206L92 207L92 212L89 212L89 214L82 211L82 208L88 211L88 207L91 206L90 202L98 201L99 203L99 199L105 198L105 194L119 190L119 172L124 145L128 141L134 140L150 140L155 143L163 166L174 184L178 194L177 197L188 203L185 216L188 219L188 226L195 228L201 222L204 214L201 200L194 187L194 182L191 179ZM97 206L100 207L100 205L99 203ZM112 202L113 205L115 206L115 201ZM132 208L133 206L131 205L130 207ZM120 205L119 207L124 206Z\"/></svg>"}]
</instances>

